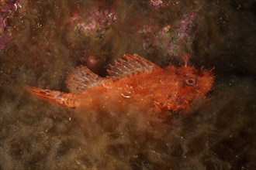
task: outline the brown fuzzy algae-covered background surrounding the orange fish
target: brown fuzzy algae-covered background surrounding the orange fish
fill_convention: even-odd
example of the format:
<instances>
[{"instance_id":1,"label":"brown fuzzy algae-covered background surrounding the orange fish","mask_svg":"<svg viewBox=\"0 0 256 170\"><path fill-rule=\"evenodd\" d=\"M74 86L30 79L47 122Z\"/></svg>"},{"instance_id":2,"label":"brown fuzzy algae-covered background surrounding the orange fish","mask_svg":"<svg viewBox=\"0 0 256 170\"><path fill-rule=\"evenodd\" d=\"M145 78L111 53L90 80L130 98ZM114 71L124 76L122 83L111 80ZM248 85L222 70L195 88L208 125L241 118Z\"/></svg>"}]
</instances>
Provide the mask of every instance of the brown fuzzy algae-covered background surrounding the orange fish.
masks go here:
<instances>
[{"instance_id":1,"label":"brown fuzzy algae-covered background surrounding the orange fish","mask_svg":"<svg viewBox=\"0 0 256 170\"><path fill-rule=\"evenodd\" d=\"M169 5L161 8L149 2L20 2L9 19L12 42L0 52L0 169L256 168L256 2L165 1ZM111 8L116 21L95 32L71 22L75 12L85 21L94 8ZM108 64L123 53L161 66L180 63L180 53L167 53L161 37L140 32L169 25L166 37L175 39L187 12L197 15L177 48L191 53L197 67L214 66L216 83L206 100L183 111L189 114L176 113L171 123L144 116L146 107L128 105L125 113L111 105L103 112L72 110L22 89L67 91L65 79L75 66L106 76Z\"/></svg>"}]
</instances>

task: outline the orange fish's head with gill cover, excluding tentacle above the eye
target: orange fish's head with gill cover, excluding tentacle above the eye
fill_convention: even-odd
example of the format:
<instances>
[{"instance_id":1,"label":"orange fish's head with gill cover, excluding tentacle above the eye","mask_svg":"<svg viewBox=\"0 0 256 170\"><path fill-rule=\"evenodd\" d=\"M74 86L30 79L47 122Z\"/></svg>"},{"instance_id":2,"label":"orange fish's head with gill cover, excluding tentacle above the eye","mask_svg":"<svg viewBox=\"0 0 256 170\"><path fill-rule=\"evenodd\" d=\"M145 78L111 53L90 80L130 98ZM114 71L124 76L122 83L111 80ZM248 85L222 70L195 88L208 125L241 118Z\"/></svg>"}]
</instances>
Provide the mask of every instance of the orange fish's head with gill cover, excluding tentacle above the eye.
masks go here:
<instances>
[{"instance_id":1,"label":"orange fish's head with gill cover, excluding tentacle above the eye","mask_svg":"<svg viewBox=\"0 0 256 170\"><path fill-rule=\"evenodd\" d=\"M162 74L159 76L161 83L157 86L159 90L153 92L154 103L162 110L184 110L195 99L206 97L213 89L213 69L196 69L188 65L168 66Z\"/></svg>"}]
</instances>

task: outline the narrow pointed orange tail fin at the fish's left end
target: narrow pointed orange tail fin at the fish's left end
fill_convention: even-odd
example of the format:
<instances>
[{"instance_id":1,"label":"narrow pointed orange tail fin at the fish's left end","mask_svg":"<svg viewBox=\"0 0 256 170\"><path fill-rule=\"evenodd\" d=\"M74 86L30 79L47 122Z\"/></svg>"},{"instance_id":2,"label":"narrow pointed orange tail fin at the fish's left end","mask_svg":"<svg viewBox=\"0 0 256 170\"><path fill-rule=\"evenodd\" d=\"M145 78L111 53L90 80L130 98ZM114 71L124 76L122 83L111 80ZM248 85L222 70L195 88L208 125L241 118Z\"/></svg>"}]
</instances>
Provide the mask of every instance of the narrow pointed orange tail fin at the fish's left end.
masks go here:
<instances>
[{"instance_id":1,"label":"narrow pointed orange tail fin at the fish's left end","mask_svg":"<svg viewBox=\"0 0 256 170\"><path fill-rule=\"evenodd\" d=\"M71 93L63 93L57 90L47 90L40 87L26 86L25 90L35 94L37 97L54 102L56 104L66 105L67 107L75 107L74 99Z\"/></svg>"}]
</instances>

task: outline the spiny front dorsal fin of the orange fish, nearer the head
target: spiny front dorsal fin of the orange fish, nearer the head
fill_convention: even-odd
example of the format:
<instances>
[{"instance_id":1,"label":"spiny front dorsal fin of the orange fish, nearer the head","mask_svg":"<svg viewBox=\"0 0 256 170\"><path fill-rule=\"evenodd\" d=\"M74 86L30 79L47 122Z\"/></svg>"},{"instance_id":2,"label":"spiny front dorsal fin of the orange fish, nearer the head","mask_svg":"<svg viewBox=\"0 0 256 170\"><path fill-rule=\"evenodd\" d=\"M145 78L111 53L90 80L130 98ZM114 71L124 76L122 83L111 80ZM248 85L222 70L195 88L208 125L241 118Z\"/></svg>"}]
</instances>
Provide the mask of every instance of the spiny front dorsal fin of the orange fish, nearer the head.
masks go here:
<instances>
[{"instance_id":1,"label":"spiny front dorsal fin of the orange fish, nearer the head","mask_svg":"<svg viewBox=\"0 0 256 170\"><path fill-rule=\"evenodd\" d=\"M153 70L157 66L156 64L144 59L137 54L125 54L125 59L117 59L114 65L109 65L110 70L107 70L109 76L114 78L120 78L122 76L130 75L132 73L139 73L146 70Z\"/></svg>"}]
</instances>

